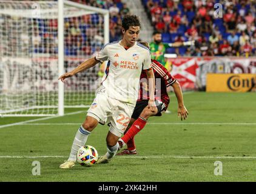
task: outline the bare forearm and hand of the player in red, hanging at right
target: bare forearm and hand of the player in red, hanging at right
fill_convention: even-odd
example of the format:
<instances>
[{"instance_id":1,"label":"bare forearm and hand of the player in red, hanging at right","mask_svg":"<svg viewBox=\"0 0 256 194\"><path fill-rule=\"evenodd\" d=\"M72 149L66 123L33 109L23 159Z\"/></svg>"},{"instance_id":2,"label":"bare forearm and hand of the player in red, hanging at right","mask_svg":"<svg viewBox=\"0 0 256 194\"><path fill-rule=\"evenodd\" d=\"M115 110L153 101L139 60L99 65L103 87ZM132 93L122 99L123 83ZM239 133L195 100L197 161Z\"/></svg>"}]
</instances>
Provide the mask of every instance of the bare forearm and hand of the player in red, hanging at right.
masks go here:
<instances>
[{"instance_id":1,"label":"bare forearm and hand of the player in red, hanging at right","mask_svg":"<svg viewBox=\"0 0 256 194\"><path fill-rule=\"evenodd\" d=\"M174 93L175 93L177 101L178 101L178 117L180 117L181 121L183 121L183 119L185 120L187 118L187 116L189 115L189 112L187 111L186 107L184 106L183 94L181 92L180 83L178 81L175 81L172 84L172 87L173 87Z\"/></svg>"}]
</instances>

